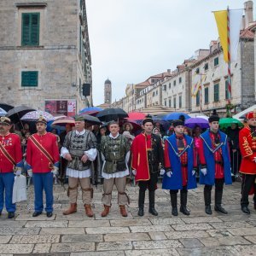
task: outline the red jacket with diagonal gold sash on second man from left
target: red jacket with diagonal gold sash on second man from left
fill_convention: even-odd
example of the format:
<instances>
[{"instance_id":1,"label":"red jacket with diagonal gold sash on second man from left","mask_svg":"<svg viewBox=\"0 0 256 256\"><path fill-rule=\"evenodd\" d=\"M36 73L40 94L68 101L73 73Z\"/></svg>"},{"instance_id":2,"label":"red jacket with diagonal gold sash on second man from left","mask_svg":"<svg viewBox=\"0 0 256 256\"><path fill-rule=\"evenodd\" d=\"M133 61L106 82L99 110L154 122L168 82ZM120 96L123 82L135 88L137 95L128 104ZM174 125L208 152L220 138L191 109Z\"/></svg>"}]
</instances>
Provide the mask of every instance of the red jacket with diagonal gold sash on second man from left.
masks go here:
<instances>
[{"instance_id":1,"label":"red jacket with diagonal gold sash on second man from left","mask_svg":"<svg viewBox=\"0 0 256 256\"><path fill-rule=\"evenodd\" d=\"M51 155L54 164L60 160L57 138L54 134L47 132L43 136L38 135L38 133L33 134L32 136ZM28 138L27 140L26 162L32 167L34 173L51 172L48 158L35 146L31 138Z\"/></svg>"}]
</instances>

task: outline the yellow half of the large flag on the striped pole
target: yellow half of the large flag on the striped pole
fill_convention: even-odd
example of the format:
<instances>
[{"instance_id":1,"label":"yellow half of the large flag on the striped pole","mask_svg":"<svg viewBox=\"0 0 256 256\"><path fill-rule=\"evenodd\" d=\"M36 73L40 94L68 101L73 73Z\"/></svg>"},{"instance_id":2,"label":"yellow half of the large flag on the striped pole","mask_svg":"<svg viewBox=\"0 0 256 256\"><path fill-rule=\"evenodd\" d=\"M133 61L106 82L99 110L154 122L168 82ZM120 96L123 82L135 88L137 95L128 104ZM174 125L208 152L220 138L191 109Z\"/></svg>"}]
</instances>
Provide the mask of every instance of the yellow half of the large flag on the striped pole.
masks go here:
<instances>
[{"instance_id":1,"label":"yellow half of the large flag on the striped pole","mask_svg":"<svg viewBox=\"0 0 256 256\"><path fill-rule=\"evenodd\" d=\"M224 52L224 61L228 62L228 11L214 12L215 20L218 26L218 36Z\"/></svg>"}]
</instances>

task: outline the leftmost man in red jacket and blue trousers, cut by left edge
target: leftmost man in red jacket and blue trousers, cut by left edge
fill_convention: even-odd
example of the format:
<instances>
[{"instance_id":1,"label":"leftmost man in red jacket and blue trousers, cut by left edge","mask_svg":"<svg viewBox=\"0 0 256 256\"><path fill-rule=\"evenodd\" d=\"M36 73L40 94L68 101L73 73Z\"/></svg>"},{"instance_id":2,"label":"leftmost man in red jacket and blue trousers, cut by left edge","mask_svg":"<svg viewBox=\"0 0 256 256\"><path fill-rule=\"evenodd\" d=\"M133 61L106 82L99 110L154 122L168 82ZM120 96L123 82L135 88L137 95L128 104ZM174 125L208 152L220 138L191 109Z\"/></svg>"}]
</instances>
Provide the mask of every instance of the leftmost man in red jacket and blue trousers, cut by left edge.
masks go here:
<instances>
[{"instance_id":1,"label":"leftmost man in red jacket and blue trousers, cut by left edge","mask_svg":"<svg viewBox=\"0 0 256 256\"><path fill-rule=\"evenodd\" d=\"M11 120L0 118L0 215L3 211L3 192L8 218L15 217L16 206L12 203L15 175L19 176L22 167L20 137L10 133Z\"/></svg>"}]
</instances>

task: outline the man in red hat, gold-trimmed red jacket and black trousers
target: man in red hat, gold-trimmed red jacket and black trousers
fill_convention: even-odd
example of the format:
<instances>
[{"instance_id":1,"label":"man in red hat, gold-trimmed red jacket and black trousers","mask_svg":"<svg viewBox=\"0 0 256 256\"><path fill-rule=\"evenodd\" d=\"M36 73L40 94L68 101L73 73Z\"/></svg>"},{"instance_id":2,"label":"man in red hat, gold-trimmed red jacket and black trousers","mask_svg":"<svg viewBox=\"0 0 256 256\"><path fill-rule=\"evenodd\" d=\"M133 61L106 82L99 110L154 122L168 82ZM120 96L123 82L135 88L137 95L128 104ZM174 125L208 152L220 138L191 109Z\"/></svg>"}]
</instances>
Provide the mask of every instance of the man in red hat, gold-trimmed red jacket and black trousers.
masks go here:
<instances>
[{"instance_id":1,"label":"man in red hat, gold-trimmed red jacket and black trousers","mask_svg":"<svg viewBox=\"0 0 256 256\"><path fill-rule=\"evenodd\" d=\"M248 209L248 195L252 187L254 187L254 209L256 209L256 110L247 113L247 127L239 132L239 147L241 150L241 166L242 173L241 183L241 211L250 214Z\"/></svg>"}]
</instances>

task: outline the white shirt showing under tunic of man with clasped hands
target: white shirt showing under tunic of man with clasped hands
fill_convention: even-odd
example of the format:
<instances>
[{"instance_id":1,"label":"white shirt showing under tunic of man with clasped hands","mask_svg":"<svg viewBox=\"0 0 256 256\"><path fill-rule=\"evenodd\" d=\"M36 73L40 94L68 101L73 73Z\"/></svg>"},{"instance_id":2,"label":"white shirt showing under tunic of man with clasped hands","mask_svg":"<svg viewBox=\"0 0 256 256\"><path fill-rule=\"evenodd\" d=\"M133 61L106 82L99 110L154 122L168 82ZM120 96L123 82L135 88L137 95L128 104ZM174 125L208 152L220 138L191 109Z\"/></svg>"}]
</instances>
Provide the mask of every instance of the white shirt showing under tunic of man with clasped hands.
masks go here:
<instances>
[{"instance_id":1,"label":"white shirt showing under tunic of man with clasped hands","mask_svg":"<svg viewBox=\"0 0 256 256\"><path fill-rule=\"evenodd\" d=\"M77 135L83 135L85 130L83 131L76 131ZM69 154L69 151L67 148L62 147L61 148L61 157L65 158L65 154ZM90 148L87 151L84 151L84 154L88 156L88 160L93 161L96 159L97 156L97 149L96 148ZM72 168L67 168L66 175L69 177L90 177L90 168L84 171L78 171L74 170Z\"/></svg>"}]
</instances>

